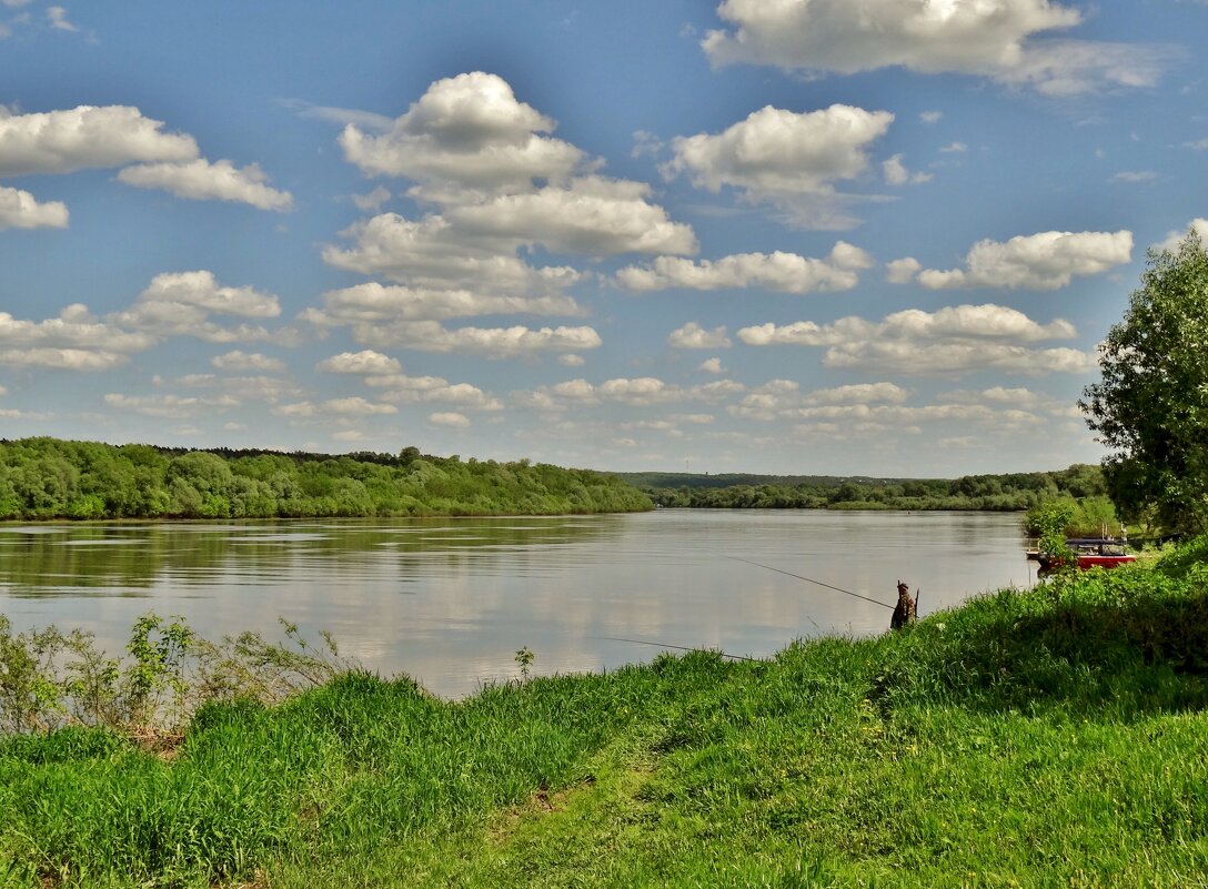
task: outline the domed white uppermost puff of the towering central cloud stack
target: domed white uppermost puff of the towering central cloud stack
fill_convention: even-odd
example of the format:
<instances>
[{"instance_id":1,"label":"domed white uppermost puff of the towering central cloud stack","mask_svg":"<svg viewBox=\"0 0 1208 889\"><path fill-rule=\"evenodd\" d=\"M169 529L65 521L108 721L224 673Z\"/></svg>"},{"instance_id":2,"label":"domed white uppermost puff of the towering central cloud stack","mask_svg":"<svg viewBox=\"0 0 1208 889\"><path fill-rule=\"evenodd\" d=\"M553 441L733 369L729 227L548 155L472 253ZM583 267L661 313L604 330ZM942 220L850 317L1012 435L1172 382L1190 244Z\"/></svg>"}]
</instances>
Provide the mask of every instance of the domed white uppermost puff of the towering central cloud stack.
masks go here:
<instances>
[{"instance_id":1,"label":"domed white uppermost puff of the towering central cloud stack","mask_svg":"<svg viewBox=\"0 0 1208 889\"><path fill-rule=\"evenodd\" d=\"M574 145L540 135L554 126L518 101L503 77L471 71L432 83L389 133L370 135L350 123L339 144L366 175L517 191L534 179L565 180L586 163Z\"/></svg>"}]
</instances>

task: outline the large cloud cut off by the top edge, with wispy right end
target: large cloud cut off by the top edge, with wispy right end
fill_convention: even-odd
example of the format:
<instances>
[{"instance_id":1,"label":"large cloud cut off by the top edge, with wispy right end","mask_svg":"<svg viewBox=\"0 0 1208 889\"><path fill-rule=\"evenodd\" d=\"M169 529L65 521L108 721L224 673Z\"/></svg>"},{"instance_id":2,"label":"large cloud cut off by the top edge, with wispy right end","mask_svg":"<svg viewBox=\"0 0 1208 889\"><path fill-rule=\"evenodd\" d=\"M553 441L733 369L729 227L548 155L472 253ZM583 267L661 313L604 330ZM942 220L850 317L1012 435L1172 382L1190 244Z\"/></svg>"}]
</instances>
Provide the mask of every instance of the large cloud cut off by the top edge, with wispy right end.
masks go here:
<instances>
[{"instance_id":1,"label":"large cloud cut off by the top edge, with wispy right end","mask_svg":"<svg viewBox=\"0 0 1208 889\"><path fill-rule=\"evenodd\" d=\"M837 74L902 66L1068 95L1152 86L1163 56L1152 47L1055 40L1049 35L1080 24L1082 14L1051 0L725 0L718 14L730 29L702 41L715 65Z\"/></svg>"}]
</instances>

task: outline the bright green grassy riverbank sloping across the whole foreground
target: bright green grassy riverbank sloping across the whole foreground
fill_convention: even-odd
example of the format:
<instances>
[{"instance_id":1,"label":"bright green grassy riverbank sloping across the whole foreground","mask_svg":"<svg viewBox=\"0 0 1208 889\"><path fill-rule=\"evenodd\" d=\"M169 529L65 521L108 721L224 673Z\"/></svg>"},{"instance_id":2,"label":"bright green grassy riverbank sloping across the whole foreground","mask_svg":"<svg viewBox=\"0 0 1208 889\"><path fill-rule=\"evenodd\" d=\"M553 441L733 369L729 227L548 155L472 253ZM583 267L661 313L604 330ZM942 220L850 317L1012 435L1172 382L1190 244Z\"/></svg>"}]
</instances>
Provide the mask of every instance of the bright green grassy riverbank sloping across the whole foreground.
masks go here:
<instances>
[{"instance_id":1,"label":"bright green grassy riverbank sloping across the whole foreground","mask_svg":"<svg viewBox=\"0 0 1208 889\"><path fill-rule=\"evenodd\" d=\"M0 742L11 885L1208 885L1204 546L762 662ZM538 652L540 657L540 652Z\"/></svg>"}]
</instances>

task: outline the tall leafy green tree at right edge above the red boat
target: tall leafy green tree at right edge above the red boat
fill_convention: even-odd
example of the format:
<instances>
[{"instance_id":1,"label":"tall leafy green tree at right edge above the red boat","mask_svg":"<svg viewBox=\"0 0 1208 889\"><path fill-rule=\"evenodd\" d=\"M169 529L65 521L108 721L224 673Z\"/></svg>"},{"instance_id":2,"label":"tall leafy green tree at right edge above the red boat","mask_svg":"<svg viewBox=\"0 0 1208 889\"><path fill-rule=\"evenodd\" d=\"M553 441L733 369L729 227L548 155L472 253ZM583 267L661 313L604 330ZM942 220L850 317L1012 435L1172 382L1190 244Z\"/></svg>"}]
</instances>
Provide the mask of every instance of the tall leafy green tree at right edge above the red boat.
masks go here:
<instances>
[{"instance_id":1,"label":"tall leafy green tree at right edge above the red boat","mask_svg":"<svg viewBox=\"0 0 1208 889\"><path fill-rule=\"evenodd\" d=\"M1142 286L1100 347L1103 380L1079 406L1098 440L1108 492L1126 519L1208 530L1208 252L1192 229L1150 250Z\"/></svg>"}]
</instances>

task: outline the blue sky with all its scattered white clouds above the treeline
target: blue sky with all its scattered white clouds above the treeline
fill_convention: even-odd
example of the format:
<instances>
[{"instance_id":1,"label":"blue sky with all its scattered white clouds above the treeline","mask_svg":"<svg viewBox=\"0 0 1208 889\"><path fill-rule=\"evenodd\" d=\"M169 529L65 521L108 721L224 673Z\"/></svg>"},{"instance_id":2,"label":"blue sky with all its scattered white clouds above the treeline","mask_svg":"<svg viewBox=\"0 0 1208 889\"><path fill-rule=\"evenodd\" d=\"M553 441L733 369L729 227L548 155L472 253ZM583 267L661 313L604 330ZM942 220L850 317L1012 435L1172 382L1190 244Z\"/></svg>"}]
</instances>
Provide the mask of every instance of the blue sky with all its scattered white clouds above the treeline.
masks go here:
<instances>
[{"instance_id":1,"label":"blue sky with all its scattered white clouds above the treeline","mask_svg":"<svg viewBox=\"0 0 1208 889\"><path fill-rule=\"evenodd\" d=\"M0 0L0 437L943 476L1102 447L1208 4Z\"/></svg>"}]
</instances>

